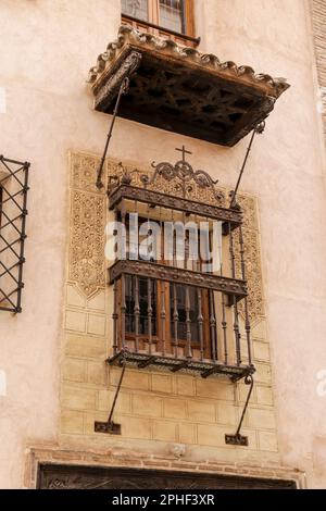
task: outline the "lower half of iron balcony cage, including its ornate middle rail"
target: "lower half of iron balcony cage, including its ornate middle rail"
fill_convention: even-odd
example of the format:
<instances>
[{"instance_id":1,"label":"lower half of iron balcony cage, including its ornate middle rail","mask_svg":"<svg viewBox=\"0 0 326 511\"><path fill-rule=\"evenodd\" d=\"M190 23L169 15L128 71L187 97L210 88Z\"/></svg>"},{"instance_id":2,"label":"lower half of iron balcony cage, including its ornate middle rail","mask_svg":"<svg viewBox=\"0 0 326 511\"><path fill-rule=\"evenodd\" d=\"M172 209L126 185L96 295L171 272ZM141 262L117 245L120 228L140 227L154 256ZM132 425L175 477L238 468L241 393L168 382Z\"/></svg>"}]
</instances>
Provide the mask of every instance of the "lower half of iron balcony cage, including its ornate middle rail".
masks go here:
<instances>
[{"instance_id":1,"label":"lower half of iron balcony cage, including its ornate middle rail","mask_svg":"<svg viewBox=\"0 0 326 511\"><path fill-rule=\"evenodd\" d=\"M203 377L225 374L233 379L253 373L241 226L230 228L228 238L228 277L155 262L116 261L110 269L114 295L110 364L124 361L139 369L155 366ZM236 241L241 278L236 278Z\"/></svg>"}]
</instances>

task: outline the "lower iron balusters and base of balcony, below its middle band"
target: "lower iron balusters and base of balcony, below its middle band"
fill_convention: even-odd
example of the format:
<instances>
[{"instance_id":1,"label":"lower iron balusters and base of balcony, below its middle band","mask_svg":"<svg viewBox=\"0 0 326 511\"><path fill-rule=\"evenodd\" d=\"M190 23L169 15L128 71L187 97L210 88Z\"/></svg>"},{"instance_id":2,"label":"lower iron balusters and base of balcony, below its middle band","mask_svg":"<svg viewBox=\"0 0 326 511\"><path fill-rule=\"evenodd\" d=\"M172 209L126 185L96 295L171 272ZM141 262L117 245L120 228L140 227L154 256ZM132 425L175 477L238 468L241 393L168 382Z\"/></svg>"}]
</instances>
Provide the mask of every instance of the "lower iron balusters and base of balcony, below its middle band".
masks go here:
<instances>
[{"instance_id":1,"label":"lower iron balusters and base of balcony, below its middle band","mask_svg":"<svg viewBox=\"0 0 326 511\"><path fill-rule=\"evenodd\" d=\"M253 372L250 344L241 342L237 302L222 291L122 274L114 282L113 327L110 364L125 361L139 369L203 377L220 373L234 379Z\"/></svg>"}]
</instances>

